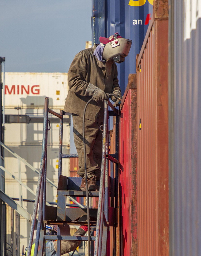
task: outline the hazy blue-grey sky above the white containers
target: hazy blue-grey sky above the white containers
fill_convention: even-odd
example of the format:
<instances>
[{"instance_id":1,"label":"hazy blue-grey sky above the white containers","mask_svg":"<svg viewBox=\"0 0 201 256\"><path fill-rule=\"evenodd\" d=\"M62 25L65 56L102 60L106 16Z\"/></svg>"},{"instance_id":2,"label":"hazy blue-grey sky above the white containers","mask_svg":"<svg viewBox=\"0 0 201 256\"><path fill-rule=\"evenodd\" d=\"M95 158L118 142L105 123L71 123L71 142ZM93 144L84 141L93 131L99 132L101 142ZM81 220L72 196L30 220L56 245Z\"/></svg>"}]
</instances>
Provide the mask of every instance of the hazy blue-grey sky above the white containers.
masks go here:
<instances>
[{"instance_id":1,"label":"hazy blue-grey sky above the white containers","mask_svg":"<svg viewBox=\"0 0 201 256\"><path fill-rule=\"evenodd\" d=\"M91 41L91 0L1 0L0 10L5 72L68 72Z\"/></svg>"}]
</instances>

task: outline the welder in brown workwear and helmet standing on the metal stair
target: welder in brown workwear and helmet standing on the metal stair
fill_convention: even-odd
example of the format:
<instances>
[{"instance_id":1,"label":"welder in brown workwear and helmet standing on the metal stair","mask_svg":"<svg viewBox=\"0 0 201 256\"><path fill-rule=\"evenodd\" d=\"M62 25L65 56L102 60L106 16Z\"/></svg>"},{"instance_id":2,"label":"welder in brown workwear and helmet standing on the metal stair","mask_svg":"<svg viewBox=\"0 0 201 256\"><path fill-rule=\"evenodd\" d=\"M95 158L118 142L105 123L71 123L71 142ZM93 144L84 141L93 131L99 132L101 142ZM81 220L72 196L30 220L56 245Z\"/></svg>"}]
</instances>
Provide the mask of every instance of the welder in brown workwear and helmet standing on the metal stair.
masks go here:
<instances>
[{"instance_id":1,"label":"welder in brown workwear and helmet standing on the metal stair","mask_svg":"<svg viewBox=\"0 0 201 256\"><path fill-rule=\"evenodd\" d=\"M122 38L118 33L99 37L100 44L84 49L76 54L68 71L69 91L64 111L72 113L74 142L79 156L77 173L82 177L80 189L86 190L84 149L82 137L83 111L85 113L85 143L87 185L89 191L96 190L96 180L100 179L102 162L102 131L99 127L104 120L104 100L106 94L121 97L118 81L117 63L121 63L128 55L132 41ZM120 103L111 96L114 106Z\"/></svg>"}]
</instances>

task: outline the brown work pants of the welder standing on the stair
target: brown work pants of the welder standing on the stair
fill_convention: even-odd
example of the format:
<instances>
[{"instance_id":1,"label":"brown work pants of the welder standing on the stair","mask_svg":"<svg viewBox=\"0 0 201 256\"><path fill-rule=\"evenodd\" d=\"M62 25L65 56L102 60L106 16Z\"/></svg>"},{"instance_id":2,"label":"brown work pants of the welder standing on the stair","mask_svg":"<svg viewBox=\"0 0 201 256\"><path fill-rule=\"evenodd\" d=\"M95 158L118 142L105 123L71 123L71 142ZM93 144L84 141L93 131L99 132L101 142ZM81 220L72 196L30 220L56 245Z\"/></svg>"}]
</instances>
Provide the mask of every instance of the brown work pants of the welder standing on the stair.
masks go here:
<instances>
[{"instance_id":1,"label":"brown work pants of the welder standing on the stair","mask_svg":"<svg viewBox=\"0 0 201 256\"><path fill-rule=\"evenodd\" d=\"M77 173L85 176L84 169L84 143L82 132L83 118L73 114L73 135L75 147L79 156L79 170ZM85 118L85 142L86 142L86 167L87 177L91 175L100 179L101 161L102 161L102 134L99 127L103 124L103 118L98 114L95 122ZM101 127L103 129L103 126Z\"/></svg>"}]
</instances>

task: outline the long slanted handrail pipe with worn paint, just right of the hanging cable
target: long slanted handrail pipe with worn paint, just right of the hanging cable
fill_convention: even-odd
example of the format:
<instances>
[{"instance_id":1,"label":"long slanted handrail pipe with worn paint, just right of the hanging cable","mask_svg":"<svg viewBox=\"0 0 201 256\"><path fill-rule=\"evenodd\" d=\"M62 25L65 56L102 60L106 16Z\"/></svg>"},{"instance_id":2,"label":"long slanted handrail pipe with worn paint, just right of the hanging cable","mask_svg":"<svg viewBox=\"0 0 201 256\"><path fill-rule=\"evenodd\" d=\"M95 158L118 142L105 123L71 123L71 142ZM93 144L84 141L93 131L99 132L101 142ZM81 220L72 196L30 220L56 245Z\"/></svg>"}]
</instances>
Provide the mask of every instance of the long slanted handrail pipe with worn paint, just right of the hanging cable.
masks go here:
<instances>
[{"instance_id":1,"label":"long slanted handrail pipe with worn paint, just right of the hanging cable","mask_svg":"<svg viewBox=\"0 0 201 256\"><path fill-rule=\"evenodd\" d=\"M99 187L99 199L98 199L98 212L97 212L97 223L96 223L96 239L94 256L98 256L98 248L100 240L100 229L101 229L101 212L104 198L104 185L105 185L105 170L106 170L106 144L107 144L107 124L108 124L108 99L104 101L104 128L103 128L103 150L102 150L102 164L100 174L100 187Z\"/></svg>"}]
</instances>

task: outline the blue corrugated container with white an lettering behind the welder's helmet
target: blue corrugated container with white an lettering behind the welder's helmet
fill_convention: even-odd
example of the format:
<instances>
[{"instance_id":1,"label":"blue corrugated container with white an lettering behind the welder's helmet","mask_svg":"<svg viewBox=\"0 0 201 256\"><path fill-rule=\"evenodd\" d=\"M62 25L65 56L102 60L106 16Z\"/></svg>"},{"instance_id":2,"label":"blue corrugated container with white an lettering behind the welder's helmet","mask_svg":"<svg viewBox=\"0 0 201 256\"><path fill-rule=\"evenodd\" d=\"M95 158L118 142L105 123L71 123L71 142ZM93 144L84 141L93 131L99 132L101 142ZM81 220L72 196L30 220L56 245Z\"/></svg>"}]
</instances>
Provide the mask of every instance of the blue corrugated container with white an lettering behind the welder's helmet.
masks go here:
<instances>
[{"instance_id":1,"label":"blue corrugated container with white an lettering behind the welder's helmet","mask_svg":"<svg viewBox=\"0 0 201 256\"><path fill-rule=\"evenodd\" d=\"M118 32L132 40L125 62L117 64L119 84L124 93L128 75L135 73L136 54L142 46L152 17L153 0L93 0L92 44L99 43L99 36L109 37Z\"/></svg>"}]
</instances>

